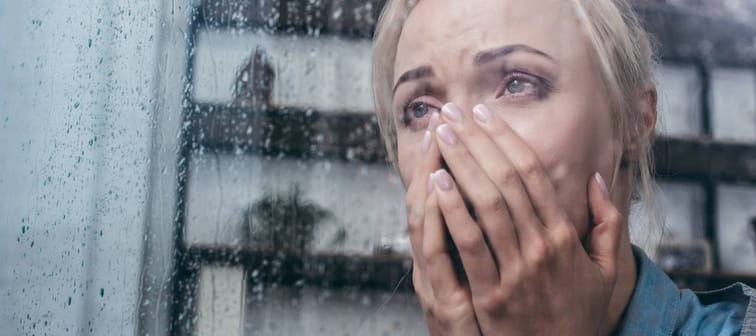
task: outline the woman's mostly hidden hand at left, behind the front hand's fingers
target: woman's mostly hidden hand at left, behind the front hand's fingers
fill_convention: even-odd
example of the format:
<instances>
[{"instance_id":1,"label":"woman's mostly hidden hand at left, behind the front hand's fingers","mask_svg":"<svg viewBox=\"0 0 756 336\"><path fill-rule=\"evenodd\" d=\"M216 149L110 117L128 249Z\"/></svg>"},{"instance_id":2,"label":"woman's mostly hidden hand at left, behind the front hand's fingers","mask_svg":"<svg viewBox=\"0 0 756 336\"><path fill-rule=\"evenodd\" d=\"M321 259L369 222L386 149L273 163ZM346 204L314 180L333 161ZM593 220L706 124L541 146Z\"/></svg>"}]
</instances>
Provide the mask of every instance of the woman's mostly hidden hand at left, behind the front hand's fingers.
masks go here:
<instances>
[{"instance_id":1,"label":"woman's mostly hidden hand at left, behind the front hand's fingers","mask_svg":"<svg viewBox=\"0 0 756 336\"><path fill-rule=\"evenodd\" d=\"M437 302L430 279L427 261L423 258L423 227L426 221L426 208L438 209L435 195L429 196L432 187L429 181L431 173L441 168L441 154L432 132L440 124L438 113L431 116L422 143L423 159L415 167L412 181L407 188L407 227L412 244L412 284L423 309L428 330L431 335L480 335L480 328L472 306L469 290L457 291L457 296L444 297L444 302ZM428 207L428 206L431 207ZM434 216L434 214L428 214ZM439 214L435 214L436 216ZM451 262L451 259L449 259ZM453 281L450 284L456 283Z\"/></svg>"}]
</instances>

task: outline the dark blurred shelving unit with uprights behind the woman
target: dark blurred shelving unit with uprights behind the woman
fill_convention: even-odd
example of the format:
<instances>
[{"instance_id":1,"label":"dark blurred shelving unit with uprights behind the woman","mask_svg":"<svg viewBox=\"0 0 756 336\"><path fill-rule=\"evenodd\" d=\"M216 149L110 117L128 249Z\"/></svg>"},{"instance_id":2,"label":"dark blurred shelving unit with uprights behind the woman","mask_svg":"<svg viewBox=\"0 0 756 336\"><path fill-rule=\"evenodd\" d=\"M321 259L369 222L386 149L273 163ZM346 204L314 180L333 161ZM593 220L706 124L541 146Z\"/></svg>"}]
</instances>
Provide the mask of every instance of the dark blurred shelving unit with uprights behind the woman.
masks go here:
<instances>
[{"instance_id":1,"label":"dark blurred shelving unit with uprights behind the woman","mask_svg":"<svg viewBox=\"0 0 756 336\"><path fill-rule=\"evenodd\" d=\"M248 29L282 35L333 35L347 39L372 36L384 1L201 1L187 33L189 48L186 85L193 83L194 50L202 30ZM710 289L743 281L756 287L756 276L717 272L716 186L721 182L756 185L756 144L717 141L711 134L709 81L714 66L754 69L754 27L726 17L683 11L664 1L645 1L639 7L661 46L665 62L692 64L702 78L703 134L696 138L661 137L654 147L657 176L669 181L694 181L705 189L705 235L714 253L713 274L677 273L671 276L694 289ZM270 15L274 13L275 15ZM336 14L338 13L338 15ZM705 41L706 43L689 43ZM756 94L756 93L754 93ZM189 245L185 240L189 164L200 148L215 152L298 159L328 159L385 164L386 153L372 115L297 108L230 107L196 102L191 90L184 99L184 125L178 164L178 211L175 216L175 265L172 286L172 334L191 333L199 268L202 264L242 265L258 270L254 282L323 288L357 287L411 291L406 277L411 262L405 256L299 255L265 251L253 246ZM259 130L249 132L249 129ZM261 139L269 139L262 142ZM281 266L266 273L272 264ZM403 280L403 281L402 281ZM397 287L398 285L398 287Z\"/></svg>"}]
</instances>

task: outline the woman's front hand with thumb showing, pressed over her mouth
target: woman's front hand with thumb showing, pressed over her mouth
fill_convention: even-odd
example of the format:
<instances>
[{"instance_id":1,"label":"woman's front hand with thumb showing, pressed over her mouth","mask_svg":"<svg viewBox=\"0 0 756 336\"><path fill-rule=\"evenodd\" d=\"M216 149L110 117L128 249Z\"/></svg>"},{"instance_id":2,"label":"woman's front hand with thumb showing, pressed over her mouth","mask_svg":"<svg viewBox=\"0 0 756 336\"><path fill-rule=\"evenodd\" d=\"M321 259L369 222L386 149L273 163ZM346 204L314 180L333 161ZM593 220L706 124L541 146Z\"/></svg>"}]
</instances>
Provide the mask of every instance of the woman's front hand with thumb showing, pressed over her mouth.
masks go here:
<instances>
[{"instance_id":1,"label":"woman's front hand with thumb showing, pressed over her mouth","mask_svg":"<svg viewBox=\"0 0 756 336\"><path fill-rule=\"evenodd\" d=\"M607 333L622 217L603 179L597 173L588 183L595 224L584 247L536 154L486 106L474 112L471 118L447 104L436 131L454 177L445 170L430 177L437 202L428 204L438 208L426 213L439 216L426 218L422 251L439 305L433 309L448 310L441 305L454 300L447 297L469 297L483 335ZM468 285L448 262L444 224Z\"/></svg>"}]
</instances>

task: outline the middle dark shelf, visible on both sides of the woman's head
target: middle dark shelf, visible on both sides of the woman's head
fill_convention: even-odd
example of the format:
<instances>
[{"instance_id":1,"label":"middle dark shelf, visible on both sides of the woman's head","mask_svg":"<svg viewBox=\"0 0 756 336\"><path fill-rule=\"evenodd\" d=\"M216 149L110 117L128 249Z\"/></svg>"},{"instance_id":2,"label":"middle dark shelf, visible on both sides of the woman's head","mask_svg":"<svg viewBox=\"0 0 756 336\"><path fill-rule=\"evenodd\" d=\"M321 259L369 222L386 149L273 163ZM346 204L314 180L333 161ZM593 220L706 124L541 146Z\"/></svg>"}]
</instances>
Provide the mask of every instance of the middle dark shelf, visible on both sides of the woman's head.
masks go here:
<instances>
[{"instance_id":1,"label":"middle dark shelf, visible on both sides of the woman's head","mask_svg":"<svg viewBox=\"0 0 756 336\"><path fill-rule=\"evenodd\" d=\"M191 115L196 146L275 157L385 163L371 114L199 104ZM756 145L661 137L657 175L671 180L756 183Z\"/></svg>"}]
</instances>

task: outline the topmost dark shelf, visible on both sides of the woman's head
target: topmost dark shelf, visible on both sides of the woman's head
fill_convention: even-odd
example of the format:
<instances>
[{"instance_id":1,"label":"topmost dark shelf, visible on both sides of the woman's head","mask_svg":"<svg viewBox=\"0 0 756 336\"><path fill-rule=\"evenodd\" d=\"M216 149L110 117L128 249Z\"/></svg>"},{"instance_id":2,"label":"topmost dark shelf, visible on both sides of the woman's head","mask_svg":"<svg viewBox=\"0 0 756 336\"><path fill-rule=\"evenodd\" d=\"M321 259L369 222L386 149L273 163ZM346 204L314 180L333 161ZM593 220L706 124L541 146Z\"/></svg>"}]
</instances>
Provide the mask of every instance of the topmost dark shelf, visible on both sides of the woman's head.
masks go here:
<instances>
[{"instance_id":1,"label":"topmost dark shelf, visible on both sides of the woman's head","mask_svg":"<svg viewBox=\"0 0 756 336\"><path fill-rule=\"evenodd\" d=\"M195 7L199 29L263 30L282 35L332 35L369 39L385 0L210 1ZM662 58L727 66L756 64L753 26L739 23L724 8L636 0ZM714 4L708 4L712 6ZM706 8L707 10L702 10Z\"/></svg>"}]
</instances>

